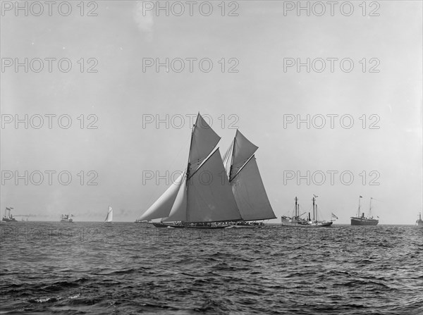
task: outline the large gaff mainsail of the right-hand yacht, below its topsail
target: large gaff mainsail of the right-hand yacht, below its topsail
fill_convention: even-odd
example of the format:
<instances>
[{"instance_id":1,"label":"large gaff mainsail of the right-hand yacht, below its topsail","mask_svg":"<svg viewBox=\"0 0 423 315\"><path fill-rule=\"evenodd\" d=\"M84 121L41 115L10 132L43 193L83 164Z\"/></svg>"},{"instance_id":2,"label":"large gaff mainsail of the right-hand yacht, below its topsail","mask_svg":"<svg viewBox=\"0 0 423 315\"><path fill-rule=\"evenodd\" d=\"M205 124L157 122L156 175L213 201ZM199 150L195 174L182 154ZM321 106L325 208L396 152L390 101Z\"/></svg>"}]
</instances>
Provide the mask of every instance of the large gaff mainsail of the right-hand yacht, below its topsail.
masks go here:
<instances>
[{"instance_id":1,"label":"large gaff mainsail of the right-hand yacht, below its topsail","mask_svg":"<svg viewBox=\"0 0 423 315\"><path fill-rule=\"evenodd\" d=\"M252 156L231 182L238 209L243 220L276 218L264 189L255 156Z\"/></svg>"}]
</instances>

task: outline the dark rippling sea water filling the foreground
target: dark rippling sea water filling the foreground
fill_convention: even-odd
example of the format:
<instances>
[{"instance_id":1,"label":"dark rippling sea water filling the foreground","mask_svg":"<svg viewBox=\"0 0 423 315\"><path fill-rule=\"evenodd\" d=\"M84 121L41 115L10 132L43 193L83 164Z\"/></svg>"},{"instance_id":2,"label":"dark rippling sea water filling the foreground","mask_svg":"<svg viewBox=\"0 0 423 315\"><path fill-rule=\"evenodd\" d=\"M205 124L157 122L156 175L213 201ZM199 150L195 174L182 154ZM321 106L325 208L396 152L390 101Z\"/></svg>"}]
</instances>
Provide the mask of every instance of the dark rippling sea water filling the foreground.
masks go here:
<instances>
[{"instance_id":1,"label":"dark rippling sea water filling the foreground","mask_svg":"<svg viewBox=\"0 0 423 315\"><path fill-rule=\"evenodd\" d=\"M0 225L1 314L423 314L415 226Z\"/></svg>"}]
</instances>

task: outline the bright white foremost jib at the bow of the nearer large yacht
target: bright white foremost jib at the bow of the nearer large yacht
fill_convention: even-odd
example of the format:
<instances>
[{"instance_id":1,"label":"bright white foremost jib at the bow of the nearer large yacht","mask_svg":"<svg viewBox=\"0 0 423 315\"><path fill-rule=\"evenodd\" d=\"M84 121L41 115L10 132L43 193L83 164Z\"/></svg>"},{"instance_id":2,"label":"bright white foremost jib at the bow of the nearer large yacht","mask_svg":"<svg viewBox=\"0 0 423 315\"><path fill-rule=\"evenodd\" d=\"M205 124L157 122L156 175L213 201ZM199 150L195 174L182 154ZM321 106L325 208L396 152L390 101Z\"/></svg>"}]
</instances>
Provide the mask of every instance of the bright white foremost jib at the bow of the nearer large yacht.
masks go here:
<instances>
[{"instance_id":1,"label":"bright white foremost jib at the bow of the nearer large yacht","mask_svg":"<svg viewBox=\"0 0 423 315\"><path fill-rule=\"evenodd\" d=\"M180 174L177 180L168 187L166 192L152 204L140 217L140 220L152 220L154 218L166 218L171 212L173 202L175 202L176 194L178 194L180 184L183 183L185 173Z\"/></svg>"}]
</instances>

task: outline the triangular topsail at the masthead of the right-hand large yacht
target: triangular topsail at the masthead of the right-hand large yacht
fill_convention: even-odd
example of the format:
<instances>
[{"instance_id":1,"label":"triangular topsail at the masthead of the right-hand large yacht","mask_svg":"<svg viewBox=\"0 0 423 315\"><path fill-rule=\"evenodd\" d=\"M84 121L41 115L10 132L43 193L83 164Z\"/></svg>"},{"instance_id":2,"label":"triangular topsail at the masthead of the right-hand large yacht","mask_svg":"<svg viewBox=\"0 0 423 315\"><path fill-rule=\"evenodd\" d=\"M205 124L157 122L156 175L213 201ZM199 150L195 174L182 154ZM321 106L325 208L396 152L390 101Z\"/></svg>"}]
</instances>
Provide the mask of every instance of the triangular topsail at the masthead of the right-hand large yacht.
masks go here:
<instances>
[{"instance_id":1,"label":"triangular topsail at the masthead of the right-hand large yacht","mask_svg":"<svg viewBox=\"0 0 423 315\"><path fill-rule=\"evenodd\" d=\"M236 130L235 144L233 144L232 152L232 163L231 163L231 174L229 181L231 181L235 175L240 171L240 168L250 159L252 154L255 154L259 147L252 144L244 135Z\"/></svg>"}]
</instances>

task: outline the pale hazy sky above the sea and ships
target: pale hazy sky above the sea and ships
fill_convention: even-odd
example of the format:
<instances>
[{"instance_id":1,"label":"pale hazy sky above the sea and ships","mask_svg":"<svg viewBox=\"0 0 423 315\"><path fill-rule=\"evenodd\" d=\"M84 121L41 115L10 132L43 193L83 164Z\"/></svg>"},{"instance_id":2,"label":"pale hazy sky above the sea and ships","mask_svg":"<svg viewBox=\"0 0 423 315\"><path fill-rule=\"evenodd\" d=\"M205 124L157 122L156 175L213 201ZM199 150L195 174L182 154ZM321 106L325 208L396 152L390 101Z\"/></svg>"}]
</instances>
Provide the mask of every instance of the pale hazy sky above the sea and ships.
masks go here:
<instances>
[{"instance_id":1,"label":"pale hazy sky above the sea and ships","mask_svg":"<svg viewBox=\"0 0 423 315\"><path fill-rule=\"evenodd\" d=\"M186 167L200 112L222 154L237 128L259 147L270 222L316 194L336 223L360 195L380 224L415 223L421 1L62 2L1 4L1 214L135 221Z\"/></svg>"}]
</instances>

